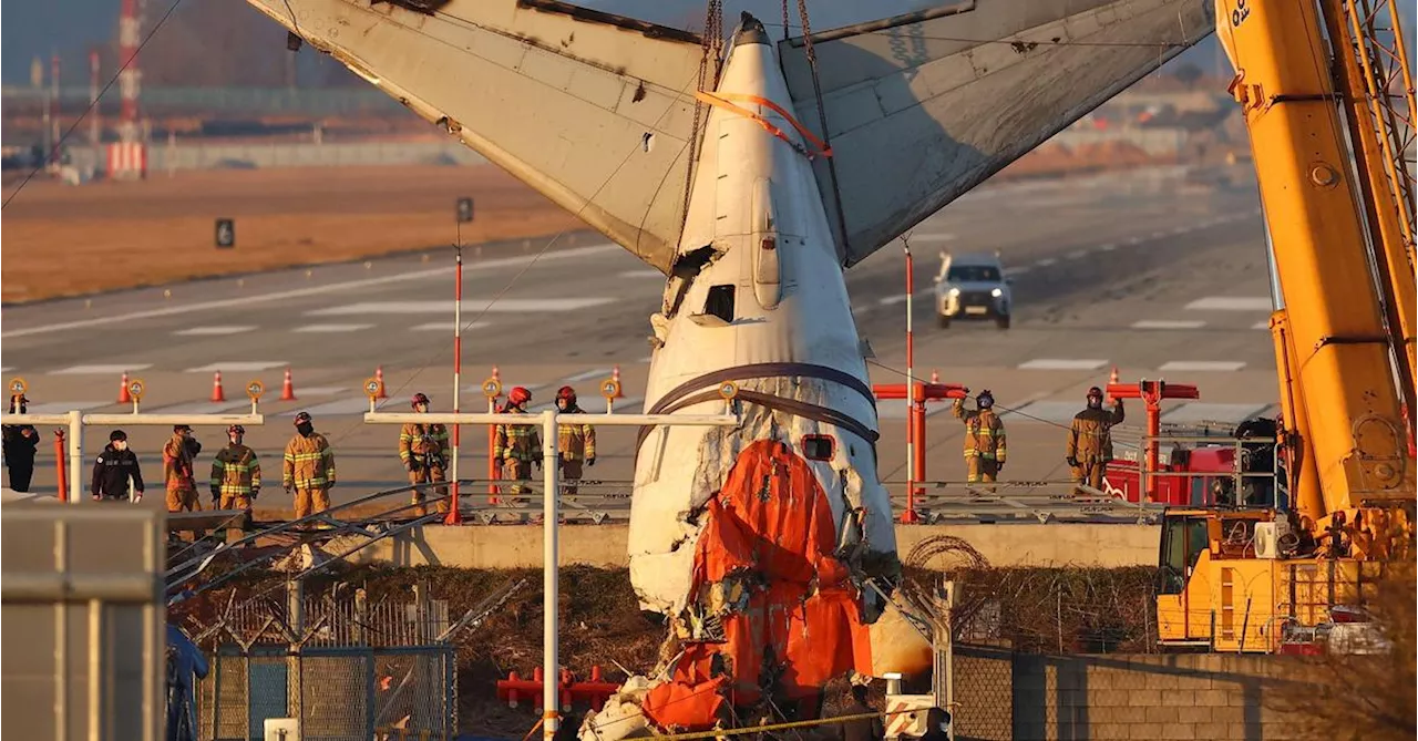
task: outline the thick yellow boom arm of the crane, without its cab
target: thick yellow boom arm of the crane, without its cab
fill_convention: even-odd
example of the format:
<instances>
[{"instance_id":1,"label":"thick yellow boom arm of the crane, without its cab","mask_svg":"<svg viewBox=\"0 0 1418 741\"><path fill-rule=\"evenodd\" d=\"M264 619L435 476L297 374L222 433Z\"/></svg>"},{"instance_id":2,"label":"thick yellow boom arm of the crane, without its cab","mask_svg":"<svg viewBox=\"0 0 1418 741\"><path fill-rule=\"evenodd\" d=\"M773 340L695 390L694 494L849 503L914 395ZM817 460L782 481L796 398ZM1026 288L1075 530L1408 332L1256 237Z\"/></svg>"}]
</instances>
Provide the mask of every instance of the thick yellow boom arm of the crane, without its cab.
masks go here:
<instances>
[{"instance_id":1,"label":"thick yellow boom arm of the crane, without its cab","mask_svg":"<svg viewBox=\"0 0 1418 741\"><path fill-rule=\"evenodd\" d=\"M1306 431L1319 476L1326 511L1310 514L1408 499L1387 286L1374 281L1319 9L1218 0L1217 33L1236 71L1229 92L1245 115L1285 298L1288 349L1276 367L1282 388L1303 397L1305 419L1288 422Z\"/></svg>"}]
</instances>

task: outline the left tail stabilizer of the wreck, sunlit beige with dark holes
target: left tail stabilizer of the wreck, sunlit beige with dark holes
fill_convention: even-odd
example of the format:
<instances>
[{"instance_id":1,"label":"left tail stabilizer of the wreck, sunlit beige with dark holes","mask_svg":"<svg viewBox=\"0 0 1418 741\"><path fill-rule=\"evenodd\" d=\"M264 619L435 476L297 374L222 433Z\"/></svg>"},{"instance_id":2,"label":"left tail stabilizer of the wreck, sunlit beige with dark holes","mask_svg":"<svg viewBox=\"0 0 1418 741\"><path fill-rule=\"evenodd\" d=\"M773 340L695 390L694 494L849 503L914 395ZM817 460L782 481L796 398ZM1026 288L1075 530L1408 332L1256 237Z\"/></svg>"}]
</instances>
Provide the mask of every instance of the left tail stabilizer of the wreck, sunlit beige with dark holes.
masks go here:
<instances>
[{"instance_id":1,"label":"left tail stabilizer of the wreck, sunlit beige with dark holes","mask_svg":"<svg viewBox=\"0 0 1418 741\"><path fill-rule=\"evenodd\" d=\"M248 0L668 271L699 37L556 0Z\"/></svg>"}]
</instances>

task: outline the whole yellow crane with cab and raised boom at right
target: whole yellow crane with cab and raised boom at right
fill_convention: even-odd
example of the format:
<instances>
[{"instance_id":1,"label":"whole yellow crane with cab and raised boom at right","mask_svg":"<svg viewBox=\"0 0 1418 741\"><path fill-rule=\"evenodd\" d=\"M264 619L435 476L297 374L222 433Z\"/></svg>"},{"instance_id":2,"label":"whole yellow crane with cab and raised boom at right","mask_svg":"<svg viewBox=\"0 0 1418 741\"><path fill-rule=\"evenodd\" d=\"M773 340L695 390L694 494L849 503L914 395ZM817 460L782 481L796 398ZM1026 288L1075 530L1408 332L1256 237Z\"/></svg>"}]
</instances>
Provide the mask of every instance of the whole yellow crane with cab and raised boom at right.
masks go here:
<instances>
[{"instance_id":1,"label":"whole yellow crane with cab and raised boom at right","mask_svg":"<svg viewBox=\"0 0 1418 741\"><path fill-rule=\"evenodd\" d=\"M1344 623L1418 524L1418 105L1391 0L1218 0L1217 37L1283 299L1283 465L1269 502L1164 516L1159 639L1288 650Z\"/></svg>"}]
</instances>

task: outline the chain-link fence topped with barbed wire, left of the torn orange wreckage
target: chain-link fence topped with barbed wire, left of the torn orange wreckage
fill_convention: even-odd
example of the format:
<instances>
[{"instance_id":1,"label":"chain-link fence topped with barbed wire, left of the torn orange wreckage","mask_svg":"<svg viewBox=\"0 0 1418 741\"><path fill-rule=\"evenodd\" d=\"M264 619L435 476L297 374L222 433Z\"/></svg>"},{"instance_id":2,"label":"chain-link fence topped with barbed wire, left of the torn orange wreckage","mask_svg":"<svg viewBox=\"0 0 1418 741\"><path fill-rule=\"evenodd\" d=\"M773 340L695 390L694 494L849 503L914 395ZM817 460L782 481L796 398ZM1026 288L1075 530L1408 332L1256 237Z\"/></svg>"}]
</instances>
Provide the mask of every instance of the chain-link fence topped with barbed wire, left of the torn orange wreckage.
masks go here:
<instances>
[{"instance_id":1,"label":"chain-link fence topped with barbed wire, left of the torn orange wreckage","mask_svg":"<svg viewBox=\"0 0 1418 741\"><path fill-rule=\"evenodd\" d=\"M294 718L301 738L369 741L457 734L457 656L445 602L255 599L228 609L199 643L211 670L197 693L200 737L265 738Z\"/></svg>"}]
</instances>

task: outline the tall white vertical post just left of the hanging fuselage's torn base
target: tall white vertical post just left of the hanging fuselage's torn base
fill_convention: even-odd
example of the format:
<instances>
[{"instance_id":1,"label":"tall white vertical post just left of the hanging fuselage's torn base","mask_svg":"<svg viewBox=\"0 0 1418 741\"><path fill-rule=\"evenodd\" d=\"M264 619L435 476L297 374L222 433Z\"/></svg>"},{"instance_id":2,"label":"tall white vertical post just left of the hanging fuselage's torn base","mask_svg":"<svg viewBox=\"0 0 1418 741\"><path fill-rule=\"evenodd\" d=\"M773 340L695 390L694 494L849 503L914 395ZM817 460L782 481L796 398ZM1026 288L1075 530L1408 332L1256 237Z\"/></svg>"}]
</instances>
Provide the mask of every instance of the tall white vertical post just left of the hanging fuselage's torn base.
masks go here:
<instances>
[{"instance_id":1,"label":"tall white vertical post just left of the hanging fuselage's torn base","mask_svg":"<svg viewBox=\"0 0 1418 741\"><path fill-rule=\"evenodd\" d=\"M542 412L542 738L552 741L562 718L557 657L557 422L556 407Z\"/></svg>"}]
</instances>

